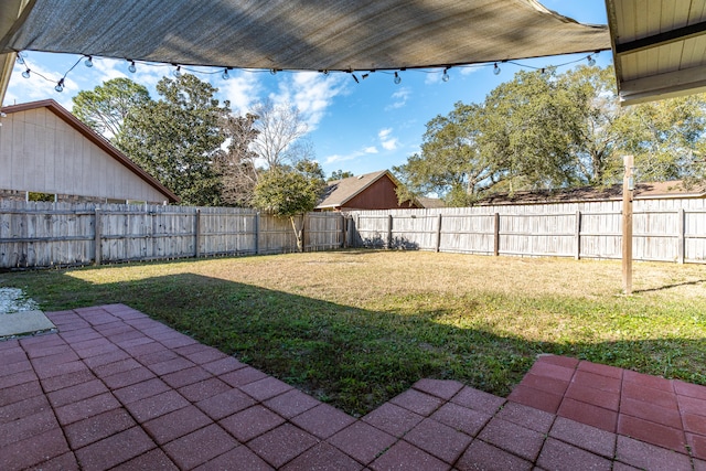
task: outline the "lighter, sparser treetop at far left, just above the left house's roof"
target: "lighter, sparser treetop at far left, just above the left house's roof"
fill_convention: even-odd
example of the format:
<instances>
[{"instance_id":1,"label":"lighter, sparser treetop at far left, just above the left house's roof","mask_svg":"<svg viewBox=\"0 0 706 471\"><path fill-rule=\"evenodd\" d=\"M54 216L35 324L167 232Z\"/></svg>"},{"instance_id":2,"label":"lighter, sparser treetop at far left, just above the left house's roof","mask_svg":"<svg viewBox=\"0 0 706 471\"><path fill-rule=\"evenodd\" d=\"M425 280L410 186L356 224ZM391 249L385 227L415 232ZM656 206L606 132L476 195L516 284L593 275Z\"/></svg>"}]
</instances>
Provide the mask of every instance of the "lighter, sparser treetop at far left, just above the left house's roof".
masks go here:
<instances>
[{"instance_id":1,"label":"lighter, sparser treetop at far left, just above the left house's roof","mask_svg":"<svg viewBox=\"0 0 706 471\"><path fill-rule=\"evenodd\" d=\"M99 135L114 139L120 135L125 119L150 101L146 87L129 78L113 78L93 90L73 97L72 113Z\"/></svg>"}]
</instances>

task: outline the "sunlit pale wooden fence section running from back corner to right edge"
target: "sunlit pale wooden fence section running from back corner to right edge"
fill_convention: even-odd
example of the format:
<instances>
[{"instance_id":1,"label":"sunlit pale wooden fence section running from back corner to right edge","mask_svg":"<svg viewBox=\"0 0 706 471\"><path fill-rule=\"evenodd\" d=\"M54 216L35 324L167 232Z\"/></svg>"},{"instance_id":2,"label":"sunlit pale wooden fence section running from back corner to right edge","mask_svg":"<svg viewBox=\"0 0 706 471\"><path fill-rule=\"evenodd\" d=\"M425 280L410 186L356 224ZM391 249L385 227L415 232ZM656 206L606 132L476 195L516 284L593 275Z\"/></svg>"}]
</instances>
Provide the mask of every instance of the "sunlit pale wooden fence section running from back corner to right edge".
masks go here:
<instances>
[{"instance_id":1,"label":"sunlit pale wooden fence section running from back corner to right edge","mask_svg":"<svg viewBox=\"0 0 706 471\"><path fill-rule=\"evenodd\" d=\"M706 207L699 202L678 207L674 202L635 201L633 259L706 263ZM354 225L349 243L496 256L620 259L619 204L356 211L349 213Z\"/></svg>"}]
</instances>

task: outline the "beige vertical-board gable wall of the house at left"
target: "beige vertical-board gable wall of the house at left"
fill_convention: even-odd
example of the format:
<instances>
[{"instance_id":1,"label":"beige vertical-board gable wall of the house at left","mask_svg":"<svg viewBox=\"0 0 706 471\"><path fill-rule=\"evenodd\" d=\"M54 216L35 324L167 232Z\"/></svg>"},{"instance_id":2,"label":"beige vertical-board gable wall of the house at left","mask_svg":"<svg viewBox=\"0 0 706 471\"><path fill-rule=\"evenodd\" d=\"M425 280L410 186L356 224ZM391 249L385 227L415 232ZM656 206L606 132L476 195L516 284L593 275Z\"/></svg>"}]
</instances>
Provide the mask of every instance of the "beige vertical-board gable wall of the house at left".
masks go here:
<instances>
[{"instance_id":1,"label":"beige vertical-board gable wall of the house at left","mask_svg":"<svg viewBox=\"0 0 706 471\"><path fill-rule=\"evenodd\" d=\"M47 108L0 127L0 190L161 203L167 197Z\"/></svg>"}]
</instances>

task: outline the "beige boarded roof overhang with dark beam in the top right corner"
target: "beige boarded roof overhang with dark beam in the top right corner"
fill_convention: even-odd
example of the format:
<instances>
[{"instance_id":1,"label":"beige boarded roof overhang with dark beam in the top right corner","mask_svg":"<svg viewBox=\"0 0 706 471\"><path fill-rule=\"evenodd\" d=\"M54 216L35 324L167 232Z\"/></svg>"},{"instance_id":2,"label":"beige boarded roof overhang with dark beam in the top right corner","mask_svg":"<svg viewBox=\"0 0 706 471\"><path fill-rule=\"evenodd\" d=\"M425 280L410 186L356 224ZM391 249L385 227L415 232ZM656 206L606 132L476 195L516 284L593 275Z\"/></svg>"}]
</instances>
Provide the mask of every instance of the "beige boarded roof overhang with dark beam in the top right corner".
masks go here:
<instances>
[{"instance_id":1,"label":"beige boarded roof overhang with dark beam in the top right corner","mask_svg":"<svg viewBox=\"0 0 706 471\"><path fill-rule=\"evenodd\" d=\"M623 105L706 92L706 0L606 0Z\"/></svg>"}]
</instances>

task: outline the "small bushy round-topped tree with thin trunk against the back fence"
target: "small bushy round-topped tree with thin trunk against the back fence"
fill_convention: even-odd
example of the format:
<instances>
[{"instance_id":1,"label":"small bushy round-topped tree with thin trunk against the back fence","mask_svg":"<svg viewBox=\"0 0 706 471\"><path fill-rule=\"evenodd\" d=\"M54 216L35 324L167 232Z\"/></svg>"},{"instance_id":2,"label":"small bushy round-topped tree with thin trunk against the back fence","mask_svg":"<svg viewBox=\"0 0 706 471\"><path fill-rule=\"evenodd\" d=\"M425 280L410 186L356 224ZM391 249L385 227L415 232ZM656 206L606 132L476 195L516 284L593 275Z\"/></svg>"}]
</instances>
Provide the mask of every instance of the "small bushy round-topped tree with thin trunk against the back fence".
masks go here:
<instances>
[{"instance_id":1,"label":"small bushy round-topped tree with thin trunk against the back fence","mask_svg":"<svg viewBox=\"0 0 706 471\"><path fill-rule=\"evenodd\" d=\"M324 188L323 170L312 160L301 160L295 167L271 167L260 175L253 204L275 216L289 217L297 248L303 251L303 226L297 226L296 216L313 211Z\"/></svg>"}]
</instances>

